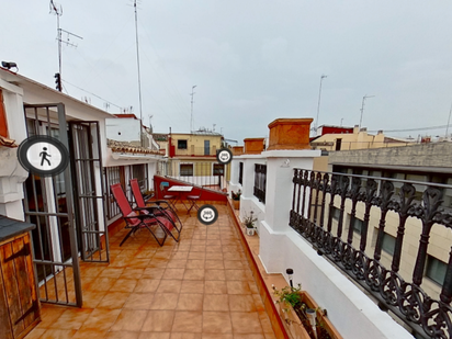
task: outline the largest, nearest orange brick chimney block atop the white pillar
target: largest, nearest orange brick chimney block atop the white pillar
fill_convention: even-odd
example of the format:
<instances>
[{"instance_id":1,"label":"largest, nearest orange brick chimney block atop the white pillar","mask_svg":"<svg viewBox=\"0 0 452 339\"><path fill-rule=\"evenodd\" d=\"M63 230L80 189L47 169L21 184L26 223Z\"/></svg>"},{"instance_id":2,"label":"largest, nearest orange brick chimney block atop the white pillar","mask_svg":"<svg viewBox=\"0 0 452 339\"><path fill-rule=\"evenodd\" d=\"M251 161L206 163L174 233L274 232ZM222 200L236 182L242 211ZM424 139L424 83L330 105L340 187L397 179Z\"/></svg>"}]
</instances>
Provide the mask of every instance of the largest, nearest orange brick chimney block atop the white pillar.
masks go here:
<instances>
[{"instance_id":1,"label":"largest, nearest orange brick chimney block atop the white pillar","mask_svg":"<svg viewBox=\"0 0 452 339\"><path fill-rule=\"evenodd\" d=\"M276 118L269 124L269 148L310 149L309 129L313 118Z\"/></svg>"}]
</instances>

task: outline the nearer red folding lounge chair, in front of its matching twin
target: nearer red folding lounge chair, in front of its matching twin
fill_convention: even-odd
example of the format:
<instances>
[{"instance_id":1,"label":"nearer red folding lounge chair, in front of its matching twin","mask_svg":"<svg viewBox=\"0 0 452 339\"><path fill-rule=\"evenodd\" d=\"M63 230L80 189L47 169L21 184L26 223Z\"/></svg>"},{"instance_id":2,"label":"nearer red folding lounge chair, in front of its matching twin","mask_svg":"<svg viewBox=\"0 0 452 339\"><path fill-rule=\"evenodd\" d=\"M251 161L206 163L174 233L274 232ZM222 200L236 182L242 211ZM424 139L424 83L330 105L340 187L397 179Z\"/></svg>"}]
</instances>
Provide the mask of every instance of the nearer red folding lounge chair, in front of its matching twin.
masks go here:
<instances>
[{"instance_id":1,"label":"nearer red folding lounge chair, in front of its matching twin","mask_svg":"<svg viewBox=\"0 0 452 339\"><path fill-rule=\"evenodd\" d=\"M110 190L117 205L120 206L121 213L126 223L125 227L131 228L131 230L121 241L120 246L122 246L124 241L128 239L129 236L135 234L140 228L147 228L150 231L150 234L154 236L154 238L157 240L158 245L160 246L163 246L165 240L167 239L168 235L171 235L171 237L174 238L171 230L174 229L176 226L170 221L170 218L166 216L155 215L151 207L146 208L147 213L143 213L143 214L139 213L138 211L132 210L131 204L128 203L127 197L125 196L124 190L121 187L121 183L112 184L110 187ZM159 239L156 233L152 231L151 228L156 228L156 229L160 228L165 235L163 238ZM176 238L174 240L179 241L179 239L176 239Z\"/></svg>"}]
</instances>

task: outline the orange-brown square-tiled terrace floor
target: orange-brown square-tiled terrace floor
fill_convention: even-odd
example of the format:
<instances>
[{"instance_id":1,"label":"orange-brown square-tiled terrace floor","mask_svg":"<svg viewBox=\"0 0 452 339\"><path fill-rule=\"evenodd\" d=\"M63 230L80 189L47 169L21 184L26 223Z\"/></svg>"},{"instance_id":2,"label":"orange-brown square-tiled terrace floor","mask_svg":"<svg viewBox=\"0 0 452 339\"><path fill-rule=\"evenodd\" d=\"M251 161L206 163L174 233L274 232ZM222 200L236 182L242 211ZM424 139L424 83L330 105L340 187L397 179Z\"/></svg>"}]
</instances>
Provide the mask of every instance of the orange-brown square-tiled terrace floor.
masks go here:
<instances>
[{"instance_id":1,"label":"orange-brown square-tiled terrace floor","mask_svg":"<svg viewBox=\"0 0 452 339\"><path fill-rule=\"evenodd\" d=\"M159 247L146 229L121 248L126 230L111 237L110 264L81 263L83 307L43 304L26 339L275 338L238 231L216 207L211 226L182 214L179 244Z\"/></svg>"}]
</instances>

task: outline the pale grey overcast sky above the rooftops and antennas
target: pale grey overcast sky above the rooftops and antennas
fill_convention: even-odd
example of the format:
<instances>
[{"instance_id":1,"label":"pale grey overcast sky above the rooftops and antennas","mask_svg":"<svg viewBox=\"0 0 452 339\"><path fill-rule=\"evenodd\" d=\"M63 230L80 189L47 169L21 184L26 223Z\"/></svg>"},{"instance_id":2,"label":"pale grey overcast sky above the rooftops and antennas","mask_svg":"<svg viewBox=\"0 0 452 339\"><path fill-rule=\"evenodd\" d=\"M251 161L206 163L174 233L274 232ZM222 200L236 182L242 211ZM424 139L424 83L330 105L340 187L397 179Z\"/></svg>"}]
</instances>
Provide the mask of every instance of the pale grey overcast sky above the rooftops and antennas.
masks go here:
<instances>
[{"instance_id":1,"label":"pale grey overcast sky above the rooftops and antennas","mask_svg":"<svg viewBox=\"0 0 452 339\"><path fill-rule=\"evenodd\" d=\"M77 48L63 48L65 92L101 109L108 101L111 113L133 106L139 116L133 1L55 2L63 7L60 27L83 37L70 37ZM57 19L49 1L2 3L0 59L54 88ZM242 144L267 136L274 118L315 118L320 76L327 75L320 125L340 125L341 118L347 126L359 124L365 94L375 95L363 114L370 131L445 125L451 18L450 0L143 0L144 122L154 115L156 132L189 132L190 92L197 86L194 127L216 124Z\"/></svg>"}]
</instances>

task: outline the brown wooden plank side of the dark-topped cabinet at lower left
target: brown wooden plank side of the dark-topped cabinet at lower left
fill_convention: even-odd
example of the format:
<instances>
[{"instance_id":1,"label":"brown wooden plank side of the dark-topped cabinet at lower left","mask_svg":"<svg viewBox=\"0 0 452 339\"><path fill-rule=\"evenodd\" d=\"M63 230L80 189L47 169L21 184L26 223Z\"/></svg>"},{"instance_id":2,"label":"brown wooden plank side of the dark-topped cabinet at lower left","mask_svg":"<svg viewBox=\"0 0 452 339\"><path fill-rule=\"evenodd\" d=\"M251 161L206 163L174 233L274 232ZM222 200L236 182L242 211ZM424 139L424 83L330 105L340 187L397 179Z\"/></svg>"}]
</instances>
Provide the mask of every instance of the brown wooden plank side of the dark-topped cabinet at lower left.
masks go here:
<instances>
[{"instance_id":1,"label":"brown wooden plank side of the dark-topped cabinet at lower left","mask_svg":"<svg viewBox=\"0 0 452 339\"><path fill-rule=\"evenodd\" d=\"M30 231L0 241L0 334L23 338L41 321Z\"/></svg>"}]
</instances>

